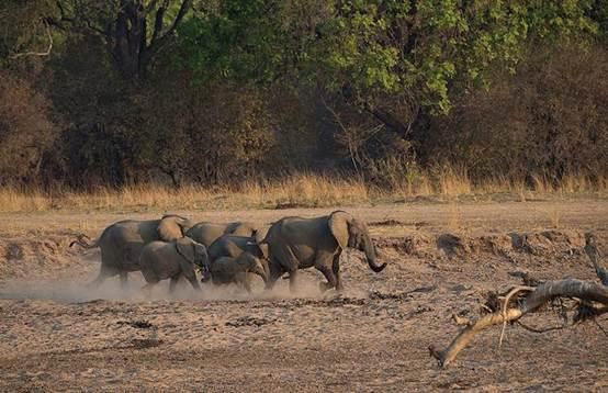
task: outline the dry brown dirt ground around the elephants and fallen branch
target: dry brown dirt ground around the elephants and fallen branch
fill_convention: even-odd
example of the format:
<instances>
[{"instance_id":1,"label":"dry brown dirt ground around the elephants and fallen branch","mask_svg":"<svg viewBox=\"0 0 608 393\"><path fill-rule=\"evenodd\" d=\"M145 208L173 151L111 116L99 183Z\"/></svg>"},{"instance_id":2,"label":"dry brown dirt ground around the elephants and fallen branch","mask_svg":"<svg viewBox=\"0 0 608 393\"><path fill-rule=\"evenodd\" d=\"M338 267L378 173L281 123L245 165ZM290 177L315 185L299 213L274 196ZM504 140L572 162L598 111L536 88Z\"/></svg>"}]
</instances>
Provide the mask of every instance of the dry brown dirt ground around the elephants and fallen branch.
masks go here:
<instances>
[{"instance_id":1,"label":"dry brown dirt ground around the elephants and fallen branch","mask_svg":"<svg viewBox=\"0 0 608 393\"><path fill-rule=\"evenodd\" d=\"M18 391L607 391L608 336L594 323L545 334L509 326L480 334L448 369L428 346L458 333L489 290L567 276L595 280L582 251L594 231L606 255L608 202L410 203L345 207L368 222L389 267L374 274L358 251L342 257L344 294L320 294L306 270L301 293L286 281L236 289L160 284L151 299L130 288L85 283L99 252L68 248L125 217L159 213L0 216L0 390ZM179 212L198 221L271 222L331 209ZM605 263L607 261L605 260ZM555 311L526 317L561 324ZM608 319L598 321L608 329Z\"/></svg>"}]
</instances>

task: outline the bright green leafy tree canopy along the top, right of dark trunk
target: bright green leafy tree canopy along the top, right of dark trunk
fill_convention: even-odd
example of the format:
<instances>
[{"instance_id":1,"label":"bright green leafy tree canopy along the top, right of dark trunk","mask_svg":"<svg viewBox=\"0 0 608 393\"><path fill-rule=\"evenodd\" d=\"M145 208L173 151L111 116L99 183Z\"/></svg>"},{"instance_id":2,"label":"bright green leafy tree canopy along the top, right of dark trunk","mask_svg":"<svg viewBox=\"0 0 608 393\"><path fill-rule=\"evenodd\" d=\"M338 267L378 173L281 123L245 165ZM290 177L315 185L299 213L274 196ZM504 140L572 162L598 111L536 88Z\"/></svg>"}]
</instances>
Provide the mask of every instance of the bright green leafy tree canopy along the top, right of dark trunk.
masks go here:
<instances>
[{"instance_id":1,"label":"bright green leafy tree canopy along the top, right of dark trunk","mask_svg":"<svg viewBox=\"0 0 608 393\"><path fill-rule=\"evenodd\" d=\"M361 108L397 96L446 113L454 82L483 86L494 65L514 71L529 40L597 32L592 3L227 0L183 26L182 65L202 80L289 77Z\"/></svg>"}]
</instances>

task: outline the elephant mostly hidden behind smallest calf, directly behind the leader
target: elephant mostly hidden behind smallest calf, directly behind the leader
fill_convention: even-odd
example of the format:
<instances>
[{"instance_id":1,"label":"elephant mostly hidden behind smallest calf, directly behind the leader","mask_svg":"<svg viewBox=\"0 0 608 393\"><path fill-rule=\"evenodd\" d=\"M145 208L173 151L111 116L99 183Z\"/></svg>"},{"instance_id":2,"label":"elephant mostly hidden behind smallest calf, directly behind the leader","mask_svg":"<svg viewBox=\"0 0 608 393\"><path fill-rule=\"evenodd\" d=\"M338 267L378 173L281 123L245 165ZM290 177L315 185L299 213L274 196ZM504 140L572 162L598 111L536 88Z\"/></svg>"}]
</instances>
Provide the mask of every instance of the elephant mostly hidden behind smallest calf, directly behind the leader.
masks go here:
<instances>
[{"instance_id":1,"label":"elephant mostly hidden behind smallest calf, directly behind the leader","mask_svg":"<svg viewBox=\"0 0 608 393\"><path fill-rule=\"evenodd\" d=\"M219 258L238 258L243 252L248 252L260 261L266 272L266 277L268 278L269 270L268 261L266 259L266 255L268 254L268 245L258 244L266 237L268 229L268 226L258 229L256 232L256 236L221 236L207 248L210 267L213 266L215 261ZM203 281L207 280L209 277L203 274Z\"/></svg>"}]
</instances>

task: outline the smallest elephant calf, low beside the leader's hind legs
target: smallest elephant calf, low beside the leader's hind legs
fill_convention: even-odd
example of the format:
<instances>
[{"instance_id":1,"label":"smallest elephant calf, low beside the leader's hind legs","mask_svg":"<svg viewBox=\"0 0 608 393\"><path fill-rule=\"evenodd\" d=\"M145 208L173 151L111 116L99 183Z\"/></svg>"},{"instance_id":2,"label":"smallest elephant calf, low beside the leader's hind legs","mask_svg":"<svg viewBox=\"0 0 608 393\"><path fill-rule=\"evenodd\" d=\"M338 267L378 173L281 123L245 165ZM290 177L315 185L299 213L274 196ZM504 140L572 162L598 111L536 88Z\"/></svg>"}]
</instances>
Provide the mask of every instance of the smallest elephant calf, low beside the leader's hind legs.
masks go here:
<instances>
[{"instance_id":1,"label":"smallest elephant calf, low beside the leader's hind legs","mask_svg":"<svg viewBox=\"0 0 608 393\"><path fill-rule=\"evenodd\" d=\"M247 273L260 276L264 283L268 278L260 259L249 252L243 252L236 258L217 258L211 263L210 273L211 281L214 284L229 284L234 282L245 288L248 293L251 293L251 284Z\"/></svg>"}]
</instances>

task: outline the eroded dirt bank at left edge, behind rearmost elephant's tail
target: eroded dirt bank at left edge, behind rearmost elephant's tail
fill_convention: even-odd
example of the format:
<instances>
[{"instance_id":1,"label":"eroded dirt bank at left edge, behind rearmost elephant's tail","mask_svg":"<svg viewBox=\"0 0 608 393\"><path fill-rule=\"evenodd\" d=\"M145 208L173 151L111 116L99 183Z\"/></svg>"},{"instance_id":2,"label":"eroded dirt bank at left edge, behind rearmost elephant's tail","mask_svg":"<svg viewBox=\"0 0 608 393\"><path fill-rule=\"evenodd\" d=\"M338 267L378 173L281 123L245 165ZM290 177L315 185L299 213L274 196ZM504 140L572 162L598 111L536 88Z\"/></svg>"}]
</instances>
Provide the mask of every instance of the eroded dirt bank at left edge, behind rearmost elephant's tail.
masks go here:
<instances>
[{"instance_id":1,"label":"eroded dirt bank at left edge, behind rearmost elephant's tail","mask_svg":"<svg viewBox=\"0 0 608 393\"><path fill-rule=\"evenodd\" d=\"M69 247L75 239L71 233L26 233L18 237L0 238L0 282L31 276L48 277L61 270L90 262L78 257L78 250Z\"/></svg>"}]
</instances>

